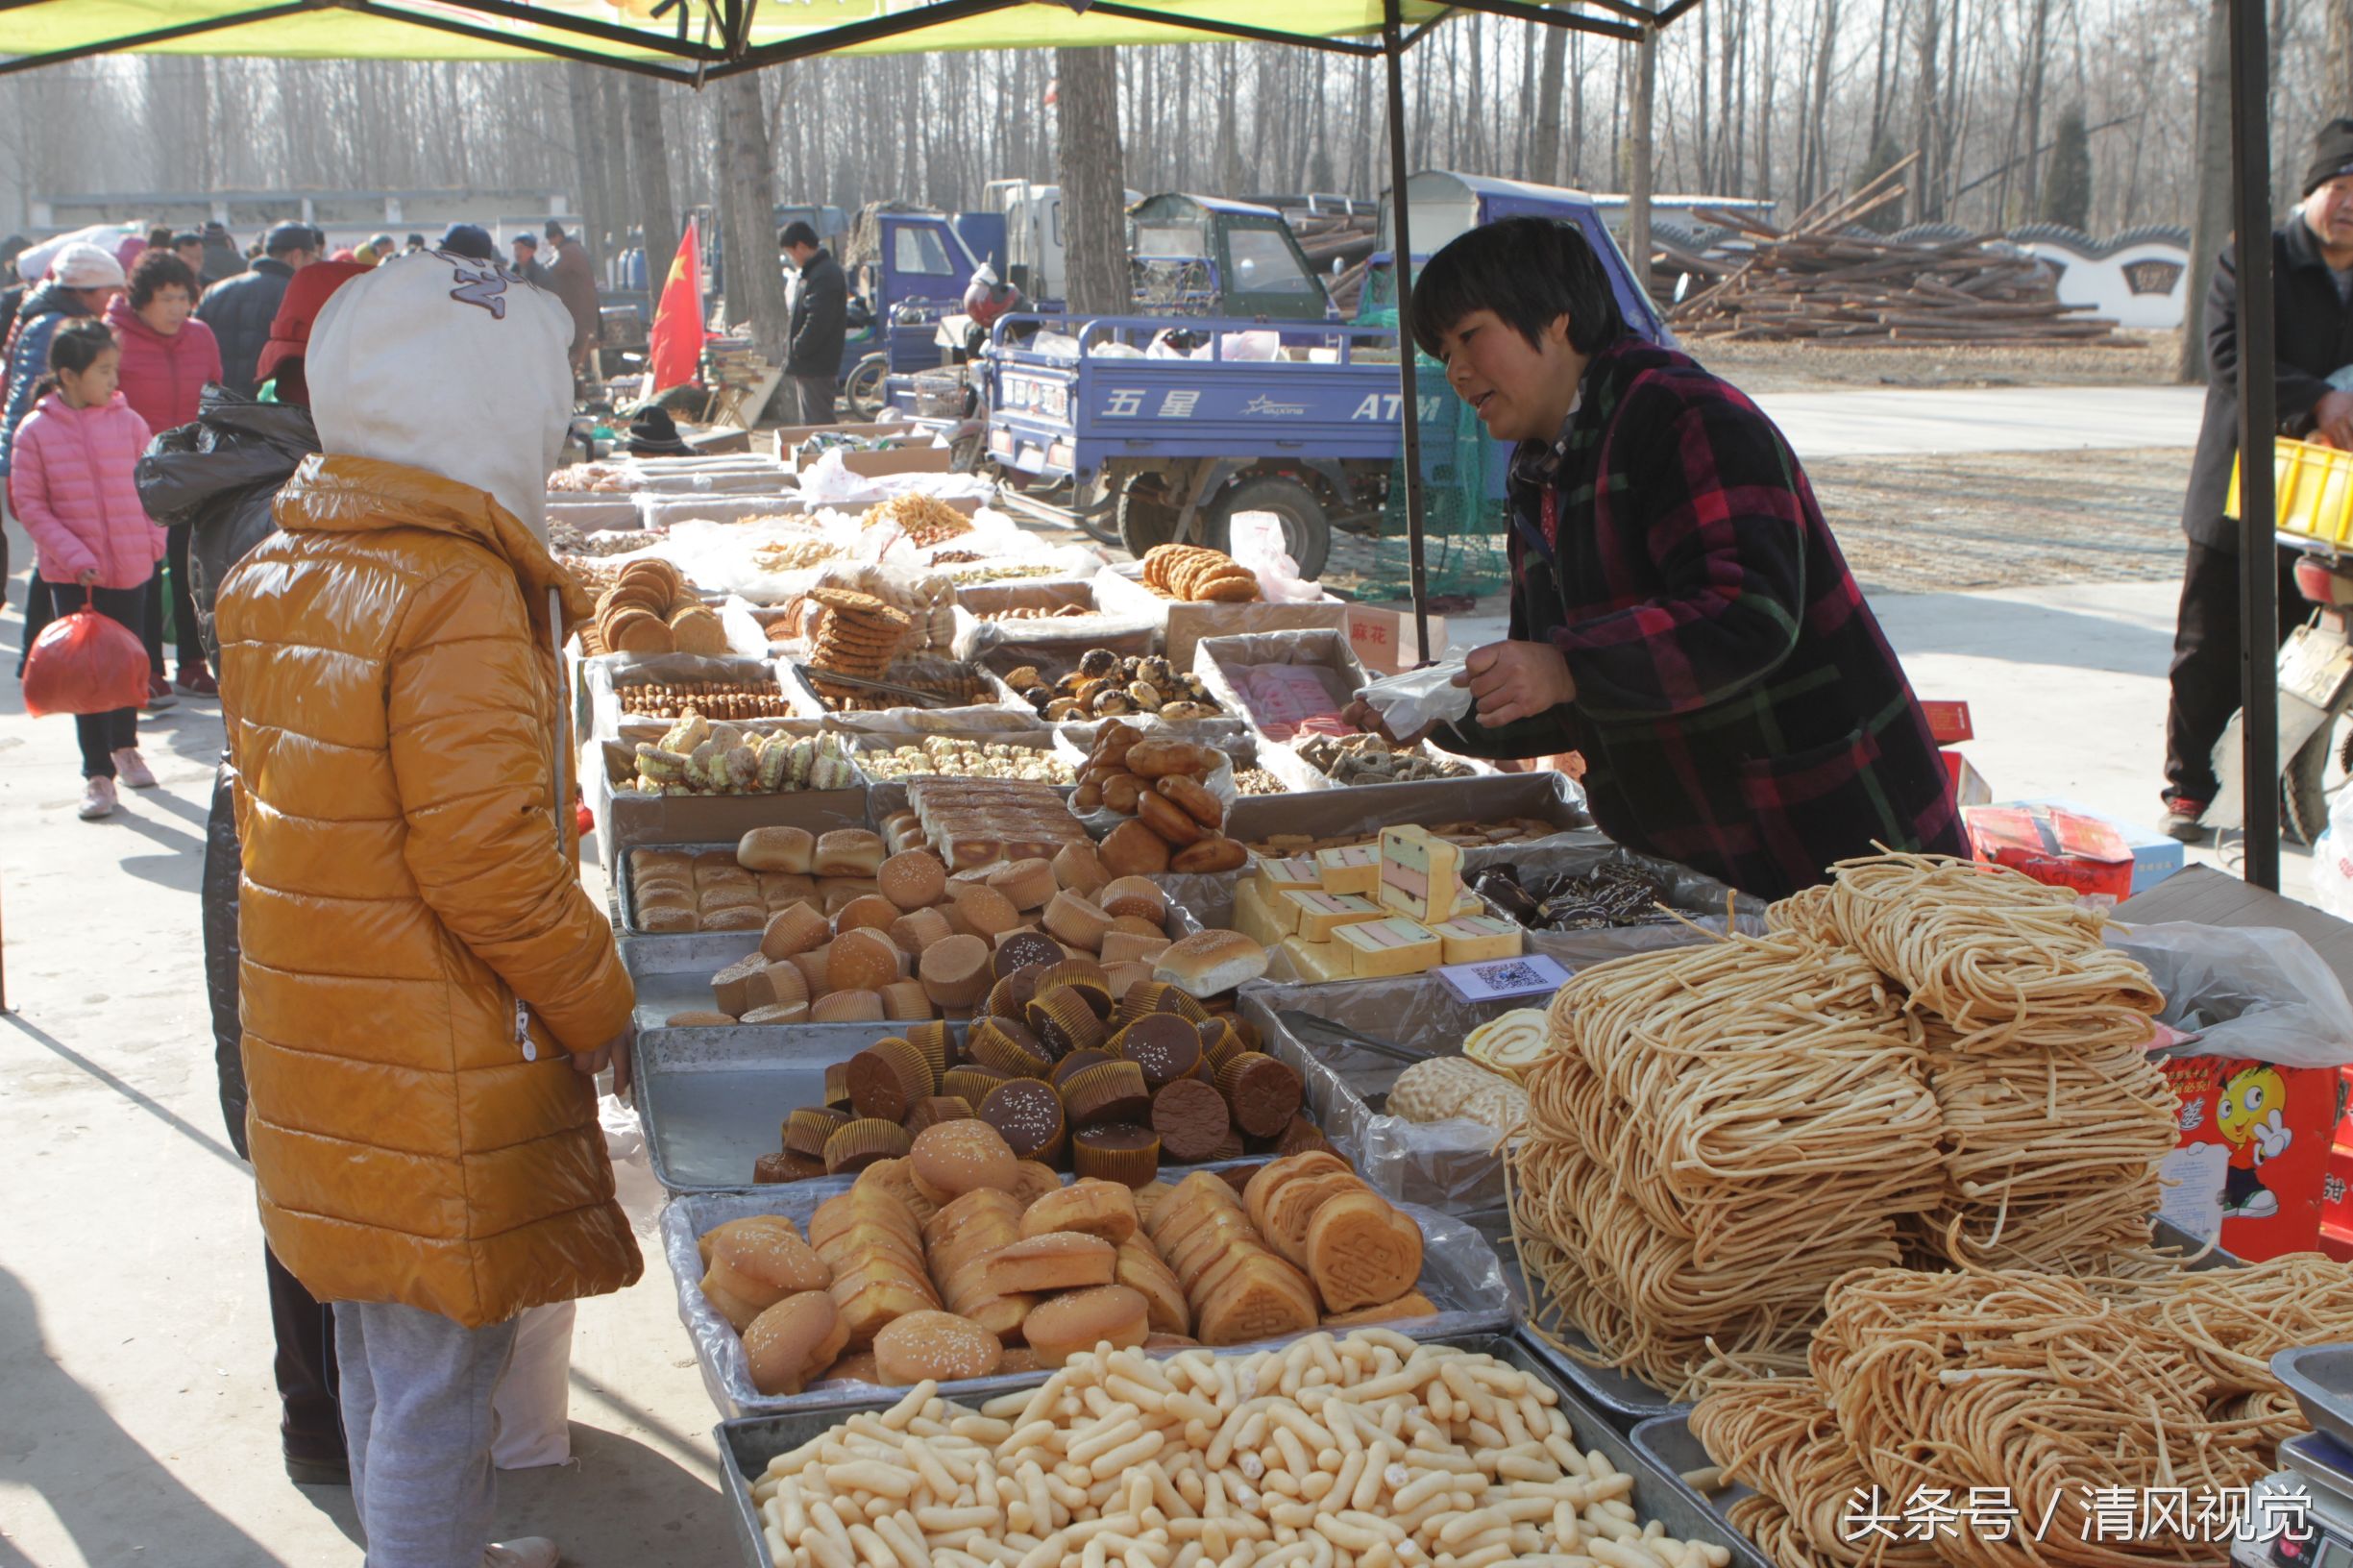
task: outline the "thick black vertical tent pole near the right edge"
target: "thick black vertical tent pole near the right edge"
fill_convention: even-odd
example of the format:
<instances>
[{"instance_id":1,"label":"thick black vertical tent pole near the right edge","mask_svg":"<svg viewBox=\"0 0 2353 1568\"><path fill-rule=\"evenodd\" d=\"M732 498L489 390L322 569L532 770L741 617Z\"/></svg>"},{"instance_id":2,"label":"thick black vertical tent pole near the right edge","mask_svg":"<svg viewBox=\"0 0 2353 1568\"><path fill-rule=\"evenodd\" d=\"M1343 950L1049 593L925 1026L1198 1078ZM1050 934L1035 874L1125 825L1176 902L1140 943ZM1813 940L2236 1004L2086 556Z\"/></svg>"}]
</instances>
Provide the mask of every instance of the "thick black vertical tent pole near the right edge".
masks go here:
<instances>
[{"instance_id":1,"label":"thick black vertical tent pole near the right edge","mask_svg":"<svg viewBox=\"0 0 2353 1568\"><path fill-rule=\"evenodd\" d=\"M2280 890L2278 341L2271 275L2271 57L2264 0L2231 0L2231 174L2238 252L2238 626L2245 878Z\"/></svg>"}]
</instances>

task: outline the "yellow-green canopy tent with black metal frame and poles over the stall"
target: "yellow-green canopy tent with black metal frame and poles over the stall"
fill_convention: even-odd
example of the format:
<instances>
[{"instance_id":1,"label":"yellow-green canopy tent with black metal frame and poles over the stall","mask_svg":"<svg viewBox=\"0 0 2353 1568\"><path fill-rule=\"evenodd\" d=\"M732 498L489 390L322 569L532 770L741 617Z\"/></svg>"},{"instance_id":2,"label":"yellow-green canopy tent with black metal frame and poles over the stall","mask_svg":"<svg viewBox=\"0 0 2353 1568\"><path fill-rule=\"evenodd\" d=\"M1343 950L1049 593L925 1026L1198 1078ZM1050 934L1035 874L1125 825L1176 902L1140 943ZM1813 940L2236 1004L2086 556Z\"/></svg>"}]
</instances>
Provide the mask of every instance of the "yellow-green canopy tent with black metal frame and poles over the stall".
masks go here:
<instances>
[{"instance_id":1,"label":"yellow-green canopy tent with black metal frame and poles over the stall","mask_svg":"<svg viewBox=\"0 0 2353 1568\"><path fill-rule=\"evenodd\" d=\"M1388 87L1391 188L1407 184L1402 57L1454 12L1487 12L1598 33L1638 47L1628 254L1649 275L1649 106L1657 35L1699 0L1584 0L1565 12L1525 0L0 0L14 59L0 75L118 49L186 54L369 59L576 59L680 82L704 82L809 54L899 54L1252 40L1381 57ZM2233 231L2271 231L2266 0L2228 0ZM1398 205L1398 325L1412 311L1412 233ZM2238 257L2240 320L2273 313L2271 245ZM2278 426L2278 351L2271 332L2240 344L2240 452L2268 452ZM1421 419L1414 356L1398 356L1405 419L1405 516L1414 629L1428 657L1421 537ZM2240 690L2247 881L2280 885L2278 673L2268 629L2278 614L2271 570L2273 469L2245 464L2240 523Z\"/></svg>"}]
</instances>

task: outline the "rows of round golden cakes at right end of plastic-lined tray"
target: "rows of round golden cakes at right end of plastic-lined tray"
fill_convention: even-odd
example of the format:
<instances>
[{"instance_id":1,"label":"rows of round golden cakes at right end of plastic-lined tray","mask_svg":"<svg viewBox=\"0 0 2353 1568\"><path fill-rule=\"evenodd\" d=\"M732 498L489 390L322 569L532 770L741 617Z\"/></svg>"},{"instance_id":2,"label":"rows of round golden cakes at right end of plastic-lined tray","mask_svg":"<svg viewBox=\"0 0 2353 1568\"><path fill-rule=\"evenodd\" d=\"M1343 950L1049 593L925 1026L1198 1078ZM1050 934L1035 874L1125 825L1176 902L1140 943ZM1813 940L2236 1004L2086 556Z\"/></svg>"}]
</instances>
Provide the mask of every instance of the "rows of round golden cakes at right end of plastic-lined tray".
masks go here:
<instances>
[{"instance_id":1,"label":"rows of round golden cakes at right end of plastic-lined tray","mask_svg":"<svg viewBox=\"0 0 2353 1568\"><path fill-rule=\"evenodd\" d=\"M1193 1172L1155 1196L1146 1229L1202 1344L1435 1311L1417 1290L1421 1227L1329 1149L1259 1165L1240 1194L1221 1172Z\"/></svg>"}]
</instances>

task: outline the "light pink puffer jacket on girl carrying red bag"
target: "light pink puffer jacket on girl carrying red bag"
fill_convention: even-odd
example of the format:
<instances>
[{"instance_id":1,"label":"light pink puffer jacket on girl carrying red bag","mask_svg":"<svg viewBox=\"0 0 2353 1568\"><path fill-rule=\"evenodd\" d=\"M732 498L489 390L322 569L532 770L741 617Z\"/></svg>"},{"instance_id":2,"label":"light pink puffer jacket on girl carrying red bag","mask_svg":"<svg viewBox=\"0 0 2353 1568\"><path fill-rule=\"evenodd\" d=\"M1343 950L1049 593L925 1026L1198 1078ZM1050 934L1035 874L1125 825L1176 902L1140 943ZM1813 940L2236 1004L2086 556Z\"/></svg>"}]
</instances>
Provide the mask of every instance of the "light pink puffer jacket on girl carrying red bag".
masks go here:
<instances>
[{"instance_id":1,"label":"light pink puffer jacket on girl carrying red bag","mask_svg":"<svg viewBox=\"0 0 2353 1568\"><path fill-rule=\"evenodd\" d=\"M146 443L122 393L99 407L49 393L16 428L7 504L40 549L42 579L71 584L96 567L101 589L136 589L155 574L162 530L132 483Z\"/></svg>"}]
</instances>

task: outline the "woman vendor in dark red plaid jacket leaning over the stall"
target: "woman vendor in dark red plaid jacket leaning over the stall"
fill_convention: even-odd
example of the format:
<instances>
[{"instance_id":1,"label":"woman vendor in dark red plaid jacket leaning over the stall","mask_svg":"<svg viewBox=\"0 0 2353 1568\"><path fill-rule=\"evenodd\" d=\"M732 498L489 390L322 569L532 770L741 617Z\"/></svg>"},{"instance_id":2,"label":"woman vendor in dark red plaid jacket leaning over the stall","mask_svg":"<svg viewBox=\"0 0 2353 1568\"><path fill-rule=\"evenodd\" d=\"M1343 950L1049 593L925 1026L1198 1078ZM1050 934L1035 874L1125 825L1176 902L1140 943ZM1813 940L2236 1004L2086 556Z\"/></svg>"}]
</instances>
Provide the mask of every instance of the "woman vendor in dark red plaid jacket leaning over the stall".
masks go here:
<instances>
[{"instance_id":1,"label":"woman vendor in dark red plaid jacket leaning over the stall","mask_svg":"<svg viewBox=\"0 0 2353 1568\"><path fill-rule=\"evenodd\" d=\"M1586 758L1614 841L1786 897L1873 845L1967 855L1927 716L1781 431L1626 330L1574 224L1473 228L1414 280L1424 353L1508 480L1511 636L1459 756ZM1353 723L1377 725L1369 704ZM1419 739L1419 737L1417 737Z\"/></svg>"}]
</instances>

